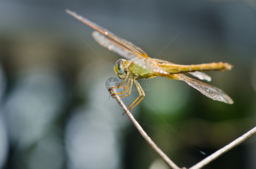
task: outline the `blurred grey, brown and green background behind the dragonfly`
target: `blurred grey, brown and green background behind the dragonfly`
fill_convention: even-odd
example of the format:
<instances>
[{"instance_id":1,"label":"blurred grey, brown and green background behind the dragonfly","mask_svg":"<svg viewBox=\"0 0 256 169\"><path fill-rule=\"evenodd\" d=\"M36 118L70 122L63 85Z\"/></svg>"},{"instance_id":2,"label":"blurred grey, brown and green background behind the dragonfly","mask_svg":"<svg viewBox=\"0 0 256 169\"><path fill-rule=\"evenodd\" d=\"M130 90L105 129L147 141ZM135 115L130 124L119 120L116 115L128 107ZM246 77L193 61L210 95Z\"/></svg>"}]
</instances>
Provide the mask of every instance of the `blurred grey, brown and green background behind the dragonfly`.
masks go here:
<instances>
[{"instance_id":1,"label":"blurred grey, brown and green background behind the dragonfly","mask_svg":"<svg viewBox=\"0 0 256 169\"><path fill-rule=\"evenodd\" d=\"M132 113L179 167L191 167L256 124L256 2L0 1L0 168L166 169L105 87L121 58L97 44L77 12L177 64L207 72L228 105L156 77ZM138 93L122 98L128 106ZM174 132L174 130L178 135ZM205 168L256 168L252 137ZM204 155L204 152L206 155Z\"/></svg>"}]
</instances>

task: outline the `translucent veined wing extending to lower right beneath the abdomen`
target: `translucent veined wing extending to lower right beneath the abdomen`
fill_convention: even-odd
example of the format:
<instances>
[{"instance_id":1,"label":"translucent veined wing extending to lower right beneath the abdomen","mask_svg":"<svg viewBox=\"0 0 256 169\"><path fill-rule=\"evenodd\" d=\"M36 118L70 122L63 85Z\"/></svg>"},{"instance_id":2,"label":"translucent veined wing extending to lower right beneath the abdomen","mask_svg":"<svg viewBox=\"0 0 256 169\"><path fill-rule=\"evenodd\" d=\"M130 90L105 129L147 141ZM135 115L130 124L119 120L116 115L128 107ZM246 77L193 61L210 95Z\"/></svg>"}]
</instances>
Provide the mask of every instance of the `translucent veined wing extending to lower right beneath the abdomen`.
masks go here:
<instances>
[{"instance_id":1,"label":"translucent veined wing extending to lower right beneath the abdomen","mask_svg":"<svg viewBox=\"0 0 256 169\"><path fill-rule=\"evenodd\" d=\"M170 77L168 77L170 76ZM222 101L228 104L233 104L233 100L222 90L218 89L217 87L211 86L209 84L200 82L198 80L192 79L188 76L185 76L184 74L172 74L168 75L167 77L169 79L174 80L183 80L187 84L189 84L191 87L195 88L202 94L206 95L208 98L211 98L213 100Z\"/></svg>"}]
</instances>

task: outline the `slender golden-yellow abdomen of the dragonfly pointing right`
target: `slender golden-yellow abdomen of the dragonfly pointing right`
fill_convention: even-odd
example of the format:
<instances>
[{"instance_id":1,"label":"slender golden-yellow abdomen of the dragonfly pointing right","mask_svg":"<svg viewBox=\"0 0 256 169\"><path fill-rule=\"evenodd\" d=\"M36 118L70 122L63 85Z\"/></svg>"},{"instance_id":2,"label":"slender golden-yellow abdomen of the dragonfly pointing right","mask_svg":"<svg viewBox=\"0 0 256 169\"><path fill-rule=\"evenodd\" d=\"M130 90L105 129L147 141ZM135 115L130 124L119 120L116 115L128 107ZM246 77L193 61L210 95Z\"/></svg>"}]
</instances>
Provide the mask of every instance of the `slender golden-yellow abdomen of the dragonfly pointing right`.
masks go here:
<instances>
[{"instance_id":1,"label":"slender golden-yellow abdomen of the dragonfly pointing right","mask_svg":"<svg viewBox=\"0 0 256 169\"><path fill-rule=\"evenodd\" d=\"M228 63L218 62L218 63L204 63L198 65L177 65L170 63L160 63L160 66L163 70L167 71L170 74L184 73L184 72L194 72L194 71L225 71L230 70L232 65Z\"/></svg>"}]
</instances>

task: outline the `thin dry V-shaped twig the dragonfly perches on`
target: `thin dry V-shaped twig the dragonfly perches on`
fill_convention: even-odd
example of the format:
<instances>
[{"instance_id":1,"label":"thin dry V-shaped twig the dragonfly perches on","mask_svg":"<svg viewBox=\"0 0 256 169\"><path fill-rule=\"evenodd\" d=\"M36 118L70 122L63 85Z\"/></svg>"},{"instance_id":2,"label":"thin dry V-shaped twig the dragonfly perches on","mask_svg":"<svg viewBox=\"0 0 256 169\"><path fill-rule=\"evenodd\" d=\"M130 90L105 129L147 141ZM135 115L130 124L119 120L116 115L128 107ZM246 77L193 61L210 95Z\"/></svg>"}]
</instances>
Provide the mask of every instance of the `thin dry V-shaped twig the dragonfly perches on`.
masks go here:
<instances>
[{"instance_id":1,"label":"thin dry V-shaped twig the dragonfly perches on","mask_svg":"<svg viewBox=\"0 0 256 169\"><path fill-rule=\"evenodd\" d=\"M122 109L125 111L129 119L132 121L132 123L135 125L135 127L138 129L138 131L141 133L141 135L145 138L145 140L149 143L149 145L160 155L160 157L173 169L180 169L173 161L171 161L166 154L152 141L152 139L147 135L147 133L142 129L142 127L139 125L139 123L134 119L132 114L127 110L127 107L124 105L124 103L121 101L118 95L115 95L116 93L115 88L110 88L109 92L113 95L113 98L119 103L119 105L122 107ZM127 111L126 111L127 110ZM251 137L256 133L256 127L254 127L252 130L248 131L241 137L235 139L227 146L224 146L223 148L219 149L215 153L211 154L210 156L206 157L204 160L198 162L196 165L192 166L189 169L199 169L210 163L211 161L215 160L225 152L229 151L230 149L234 148L238 144L241 144L243 141L245 141L247 138ZM182 169L185 169L183 167Z\"/></svg>"}]
</instances>

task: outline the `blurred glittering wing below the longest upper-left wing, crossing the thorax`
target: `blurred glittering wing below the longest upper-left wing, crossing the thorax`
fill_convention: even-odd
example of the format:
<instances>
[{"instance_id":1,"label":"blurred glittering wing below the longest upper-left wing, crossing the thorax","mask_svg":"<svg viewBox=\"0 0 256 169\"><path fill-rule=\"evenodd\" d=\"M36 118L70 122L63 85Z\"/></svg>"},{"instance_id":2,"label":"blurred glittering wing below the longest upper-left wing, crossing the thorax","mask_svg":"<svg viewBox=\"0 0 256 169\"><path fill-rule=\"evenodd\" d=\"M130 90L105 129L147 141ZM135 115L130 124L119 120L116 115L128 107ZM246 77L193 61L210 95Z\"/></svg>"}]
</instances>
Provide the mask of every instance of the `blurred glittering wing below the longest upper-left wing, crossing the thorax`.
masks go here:
<instances>
[{"instance_id":1,"label":"blurred glittering wing below the longest upper-left wing, crossing the thorax","mask_svg":"<svg viewBox=\"0 0 256 169\"><path fill-rule=\"evenodd\" d=\"M164 71L162 68L157 66L157 63L154 62L151 58L145 58L140 54L127 49L126 47L122 46L121 44L113 41L112 39L107 38L106 36L100 34L97 31L92 33L93 38L103 47L112 50L113 52L118 53L122 57L130 60L132 63L138 65L141 68L154 70L157 72L161 72L163 74L168 74L168 72Z\"/></svg>"}]
</instances>

